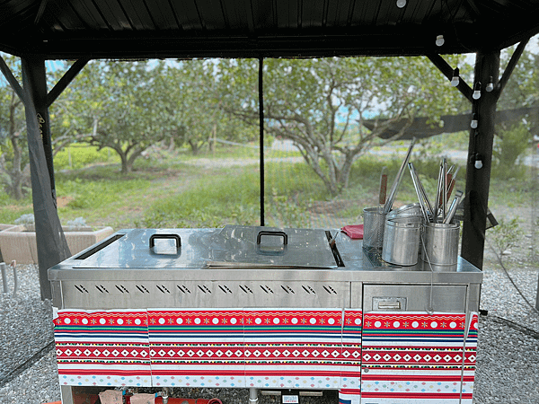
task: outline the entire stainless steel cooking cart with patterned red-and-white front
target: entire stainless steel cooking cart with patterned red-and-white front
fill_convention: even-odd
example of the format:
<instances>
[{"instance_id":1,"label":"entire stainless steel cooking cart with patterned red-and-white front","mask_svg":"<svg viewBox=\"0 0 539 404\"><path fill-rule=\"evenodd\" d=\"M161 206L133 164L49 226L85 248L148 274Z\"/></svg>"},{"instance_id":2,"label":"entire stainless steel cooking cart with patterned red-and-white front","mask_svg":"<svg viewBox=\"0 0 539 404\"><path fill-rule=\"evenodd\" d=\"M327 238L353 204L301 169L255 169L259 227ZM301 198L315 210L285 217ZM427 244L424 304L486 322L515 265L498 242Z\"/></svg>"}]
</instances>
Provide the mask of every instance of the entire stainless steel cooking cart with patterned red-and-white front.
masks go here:
<instances>
[{"instance_id":1,"label":"entire stainless steel cooking cart with patterned red-and-white front","mask_svg":"<svg viewBox=\"0 0 539 404\"><path fill-rule=\"evenodd\" d=\"M400 267L333 236L121 230L50 268L64 402L75 386L145 386L471 403L482 272Z\"/></svg>"}]
</instances>

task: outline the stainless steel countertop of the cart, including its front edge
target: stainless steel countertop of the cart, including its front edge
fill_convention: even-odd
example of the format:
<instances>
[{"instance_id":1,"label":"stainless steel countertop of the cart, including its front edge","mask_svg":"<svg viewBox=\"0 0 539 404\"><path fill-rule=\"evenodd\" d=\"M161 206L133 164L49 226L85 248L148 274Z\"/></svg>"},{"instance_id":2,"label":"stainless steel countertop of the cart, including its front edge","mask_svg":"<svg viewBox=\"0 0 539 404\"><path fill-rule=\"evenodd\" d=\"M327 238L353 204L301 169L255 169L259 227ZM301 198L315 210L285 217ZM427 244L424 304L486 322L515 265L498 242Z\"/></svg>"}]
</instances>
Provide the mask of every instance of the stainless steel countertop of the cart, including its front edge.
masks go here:
<instances>
[{"instance_id":1,"label":"stainless steel countertop of the cart, including its front edge","mask_svg":"<svg viewBox=\"0 0 539 404\"><path fill-rule=\"evenodd\" d=\"M239 231L239 235L233 232ZM49 280L311 280L411 284L481 284L482 271L459 257L457 268L448 272L431 272L422 262L413 267L398 267L384 263L374 253L363 250L361 240L351 240L345 234L336 239L344 267L337 267L322 229L286 229L287 247L280 237L264 237L261 244L272 246L267 253L252 253L256 243L253 234L259 230L279 230L263 227L227 226L225 229L131 229L115 242L87 255L93 247L66 259L49 269ZM231 233L232 232L232 233ZM172 244L150 250L146 240L155 233L176 233L181 237L181 249ZM334 234L334 231L331 232ZM225 238L216 235L225 234ZM306 235L306 239L303 236ZM110 236L110 238L115 235ZM232 237L231 237L232 236ZM247 239L247 242L241 242ZM110 239L108 239L110 240ZM309 240L310 242L305 242ZM194 241L194 242L193 242ZM166 242L172 242L165 240ZM146 243L145 245L137 245ZM306 245L310 244L310 245ZM218 246L210 248L208 246ZM231 249L231 246L233 247ZM161 249L161 250L160 250ZM232 253L235 250L236 253ZM281 254L286 250L286 253ZM262 260L252 262L255 259ZM295 259L294 257L299 257ZM208 266L217 263L218 267ZM221 264L225 263L225 266ZM275 265L275 266L273 266Z\"/></svg>"}]
</instances>

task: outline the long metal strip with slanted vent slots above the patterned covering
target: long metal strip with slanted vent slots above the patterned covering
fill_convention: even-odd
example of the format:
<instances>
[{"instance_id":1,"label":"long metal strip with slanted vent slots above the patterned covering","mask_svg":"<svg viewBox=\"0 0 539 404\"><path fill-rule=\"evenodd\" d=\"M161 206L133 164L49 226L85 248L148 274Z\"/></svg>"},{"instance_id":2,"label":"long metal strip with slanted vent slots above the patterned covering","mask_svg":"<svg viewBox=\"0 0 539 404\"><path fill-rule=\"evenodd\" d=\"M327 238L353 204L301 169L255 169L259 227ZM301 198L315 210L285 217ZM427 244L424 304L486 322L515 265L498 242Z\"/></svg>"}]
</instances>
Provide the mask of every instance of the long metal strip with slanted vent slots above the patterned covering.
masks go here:
<instances>
[{"instance_id":1,"label":"long metal strip with slanted vent slots above the patterned covering","mask_svg":"<svg viewBox=\"0 0 539 404\"><path fill-rule=\"evenodd\" d=\"M55 283L57 284L57 283ZM64 281L62 304L71 309L161 307L349 307L348 282L287 281ZM55 288L55 296L57 290ZM55 300L56 303L56 300Z\"/></svg>"}]
</instances>

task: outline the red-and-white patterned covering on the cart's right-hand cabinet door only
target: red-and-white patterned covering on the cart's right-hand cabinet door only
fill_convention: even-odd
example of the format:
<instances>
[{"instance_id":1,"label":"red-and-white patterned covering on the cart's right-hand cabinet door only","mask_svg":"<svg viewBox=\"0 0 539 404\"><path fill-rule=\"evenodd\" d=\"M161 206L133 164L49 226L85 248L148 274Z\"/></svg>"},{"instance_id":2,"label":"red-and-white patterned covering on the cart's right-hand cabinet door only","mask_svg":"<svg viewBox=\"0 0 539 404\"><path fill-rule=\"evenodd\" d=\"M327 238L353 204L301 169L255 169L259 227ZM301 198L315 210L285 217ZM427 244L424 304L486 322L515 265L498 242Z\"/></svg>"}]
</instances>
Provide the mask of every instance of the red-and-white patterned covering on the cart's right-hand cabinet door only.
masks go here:
<instances>
[{"instance_id":1,"label":"red-and-white patterned covering on the cart's right-hand cabinet door only","mask_svg":"<svg viewBox=\"0 0 539 404\"><path fill-rule=\"evenodd\" d=\"M476 335L476 314L372 312L363 325L362 400L471 402L473 373L463 366L473 366L475 356L464 358L464 335Z\"/></svg>"}]
</instances>

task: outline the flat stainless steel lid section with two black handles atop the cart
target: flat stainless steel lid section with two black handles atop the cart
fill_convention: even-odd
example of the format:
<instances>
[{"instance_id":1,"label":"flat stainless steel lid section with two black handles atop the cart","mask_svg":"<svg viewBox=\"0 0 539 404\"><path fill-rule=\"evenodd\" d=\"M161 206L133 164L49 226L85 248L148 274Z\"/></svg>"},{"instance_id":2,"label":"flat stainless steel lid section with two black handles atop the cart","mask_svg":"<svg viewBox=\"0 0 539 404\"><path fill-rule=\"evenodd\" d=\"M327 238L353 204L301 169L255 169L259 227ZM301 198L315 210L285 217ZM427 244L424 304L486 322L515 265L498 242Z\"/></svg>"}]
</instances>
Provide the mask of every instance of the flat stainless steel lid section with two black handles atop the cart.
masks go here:
<instances>
[{"instance_id":1,"label":"flat stainless steel lid section with two black handles atop the cart","mask_svg":"<svg viewBox=\"0 0 539 404\"><path fill-rule=\"evenodd\" d=\"M76 268L337 268L325 231L227 225L133 229Z\"/></svg>"}]
</instances>

